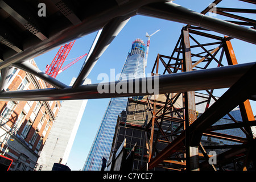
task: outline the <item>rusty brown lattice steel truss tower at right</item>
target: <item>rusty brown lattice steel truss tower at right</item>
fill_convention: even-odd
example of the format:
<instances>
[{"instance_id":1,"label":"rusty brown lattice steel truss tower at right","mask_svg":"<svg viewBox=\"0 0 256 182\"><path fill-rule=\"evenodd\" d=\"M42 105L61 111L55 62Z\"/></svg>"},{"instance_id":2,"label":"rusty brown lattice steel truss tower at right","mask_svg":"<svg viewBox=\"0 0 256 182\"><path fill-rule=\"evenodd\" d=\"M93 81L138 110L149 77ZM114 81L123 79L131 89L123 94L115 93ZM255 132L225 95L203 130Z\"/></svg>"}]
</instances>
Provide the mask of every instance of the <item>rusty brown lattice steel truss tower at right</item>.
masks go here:
<instances>
[{"instance_id":1,"label":"rusty brown lattice steel truss tower at right","mask_svg":"<svg viewBox=\"0 0 256 182\"><path fill-rule=\"evenodd\" d=\"M224 67L226 64L238 64L230 43L231 38L228 36L221 38L198 31L198 29L201 28L183 27L172 55L158 54L156 57L152 75L159 75L160 65L164 67L164 75L166 73L191 72L213 66ZM195 34L214 41L201 44L194 37ZM191 42L194 42L195 45L192 46ZM197 49L195 53L193 50L198 47L201 48L201 52L197 53ZM217 57L218 52L220 54ZM222 61L224 56L227 63ZM255 100L253 98L256 88L255 76L253 76L255 69L256 67L253 66L218 99L213 96L214 89L205 90L209 97L199 103L195 102L195 92L193 91L168 93L164 104L151 97L152 99L148 100L148 108L151 110L152 118L145 127L145 135L148 138L146 141L148 169L163 167L172 170L216 170L216 168L225 170L229 169L226 165L232 163L232 169L246 170L247 168L251 169L252 163L255 166L256 158L253 152L256 149L256 135L252 132L251 127L256 126L256 122L248 100L250 98ZM183 105L175 107L179 97L183 98ZM215 101L212 106L209 106L210 100ZM197 117L196 105L205 102L207 102L205 112ZM240 107L242 122L236 121L229 113L236 106ZM234 123L212 126L226 114ZM168 122L169 127L166 127ZM162 126L163 123L165 126ZM174 125L176 127L173 127ZM216 130L234 128L241 129L246 138L216 132ZM202 136L229 140L237 144L203 146ZM166 147L163 148L164 145ZM208 155L206 150L224 148L227 150L216 156L217 165L209 164L208 160L212 155ZM240 162L242 165L238 167Z\"/></svg>"}]
</instances>

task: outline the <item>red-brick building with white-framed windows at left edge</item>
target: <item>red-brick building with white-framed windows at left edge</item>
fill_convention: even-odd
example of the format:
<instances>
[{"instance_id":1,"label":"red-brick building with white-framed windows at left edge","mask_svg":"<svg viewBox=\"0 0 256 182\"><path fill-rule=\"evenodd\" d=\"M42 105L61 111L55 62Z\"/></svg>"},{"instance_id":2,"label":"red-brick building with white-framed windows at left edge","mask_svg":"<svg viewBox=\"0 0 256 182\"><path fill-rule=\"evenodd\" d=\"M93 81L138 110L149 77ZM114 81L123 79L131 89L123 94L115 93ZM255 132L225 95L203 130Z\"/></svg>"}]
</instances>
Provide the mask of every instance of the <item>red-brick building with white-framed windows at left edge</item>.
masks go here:
<instances>
[{"instance_id":1,"label":"red-brick building with white-framed windows at left edge","mask_svg":"<svg viewBox=\"0 0 256 182\"><path fill-rule=\"evenodd\" d=\"M34 60L29 60L36 66ZM7 90L47 88L46 82L14 68ZM8 91L7 91L8 92ZM59 101L0 101L0 153L13 159L9 170L34 170L60 108Z\"/></svg>"}]
</instances>

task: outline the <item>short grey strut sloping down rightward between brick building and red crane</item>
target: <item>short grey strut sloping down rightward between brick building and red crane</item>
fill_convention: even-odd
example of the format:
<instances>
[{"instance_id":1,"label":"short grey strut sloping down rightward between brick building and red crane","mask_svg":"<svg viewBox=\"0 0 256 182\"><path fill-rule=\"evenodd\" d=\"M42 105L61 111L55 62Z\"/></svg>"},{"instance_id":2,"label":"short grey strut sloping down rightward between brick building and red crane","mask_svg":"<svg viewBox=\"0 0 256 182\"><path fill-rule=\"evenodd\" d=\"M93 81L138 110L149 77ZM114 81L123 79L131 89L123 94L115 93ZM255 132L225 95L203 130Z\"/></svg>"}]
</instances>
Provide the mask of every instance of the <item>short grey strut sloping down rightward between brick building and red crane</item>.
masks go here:
<instances>
[{"instance_id":1,"label":"short grey strut sloping down rightward between brick building and red crane","mask_svg":"<svg viewBox=\"0 0 256 182\"><path fill-rule=\"evenodd\" d=\"M62 82L56 80L55 78L40 71L40 69L34 67L28 61L24 61L22 63L14 63L13 65L16 68L22 69L23 71L26 71L28 73L31 73L32 75L35 75L35 76L41 78L42 80L48 82L52 86L55 86L57 89L63 89L63 88L68 87L68 85L63 84ZM1 78L2 78L2 76L1 76Z\"/></svg>"}]
</instances>

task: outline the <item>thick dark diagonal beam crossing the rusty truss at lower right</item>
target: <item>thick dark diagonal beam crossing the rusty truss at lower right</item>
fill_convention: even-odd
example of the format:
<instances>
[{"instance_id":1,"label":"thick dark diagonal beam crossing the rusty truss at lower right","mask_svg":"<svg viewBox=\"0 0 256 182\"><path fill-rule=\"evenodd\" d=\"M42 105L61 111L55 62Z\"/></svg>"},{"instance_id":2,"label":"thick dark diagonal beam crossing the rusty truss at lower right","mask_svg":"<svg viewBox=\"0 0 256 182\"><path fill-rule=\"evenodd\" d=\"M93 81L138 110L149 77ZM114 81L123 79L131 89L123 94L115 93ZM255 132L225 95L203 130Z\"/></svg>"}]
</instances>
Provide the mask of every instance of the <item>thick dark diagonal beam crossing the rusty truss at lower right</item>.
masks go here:
<instances>
[{"instance_id":1,"label":"thick dark diagonal beam crossing the rusty truss at lower right","mask_svg":"<svg viewBox=\"0 0 256 182\"><path fill-rule=\"evenodd\" d=\"M208 127L212 126L213 123L224 117L226 113L234 109L234 107L236 107L241 101L245 101L246 98L253 93L253 90L256 89L255 71L256 64L189 126L189 131L193 136L191 140L195 146L199 145L201 136ZM176 150L179 150L179 148L183 146L184 139L185 131L181 133L171 144L164 148L164 150L154 159L152 159L148 168L154 168L168 156L174 154Z\"/></svg>"}]
</instances>

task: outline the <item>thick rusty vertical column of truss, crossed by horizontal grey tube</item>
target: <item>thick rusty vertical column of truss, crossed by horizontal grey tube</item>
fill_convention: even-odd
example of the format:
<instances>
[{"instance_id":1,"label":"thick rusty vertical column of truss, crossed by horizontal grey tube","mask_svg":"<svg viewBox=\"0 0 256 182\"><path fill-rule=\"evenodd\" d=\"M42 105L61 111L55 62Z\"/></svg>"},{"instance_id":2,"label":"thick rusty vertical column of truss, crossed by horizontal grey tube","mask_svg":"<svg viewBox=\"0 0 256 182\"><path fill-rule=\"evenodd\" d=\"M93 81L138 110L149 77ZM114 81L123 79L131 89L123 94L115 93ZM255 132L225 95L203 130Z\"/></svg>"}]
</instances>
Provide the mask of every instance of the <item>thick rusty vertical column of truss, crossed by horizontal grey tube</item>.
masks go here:
<instances>
[{"instance_id":1,"label":"thick rusty vertical column of truss, crossed by horizontal grey tube","mask_svg":"<svg viewBox=\"0 0 256 182\"><path fill-rule=\"evenodd\" d=\"M189 43L189 32L183 28L182 36L182 53L183 53L183 72L192 71L191 49ZM185 114L185 148L186 148L186 168L188 171L199 170L199 149L198 146L191 146L189 125L196 120L195 92L184 93L184 114Z\"/></svg>"}]
</instances>

